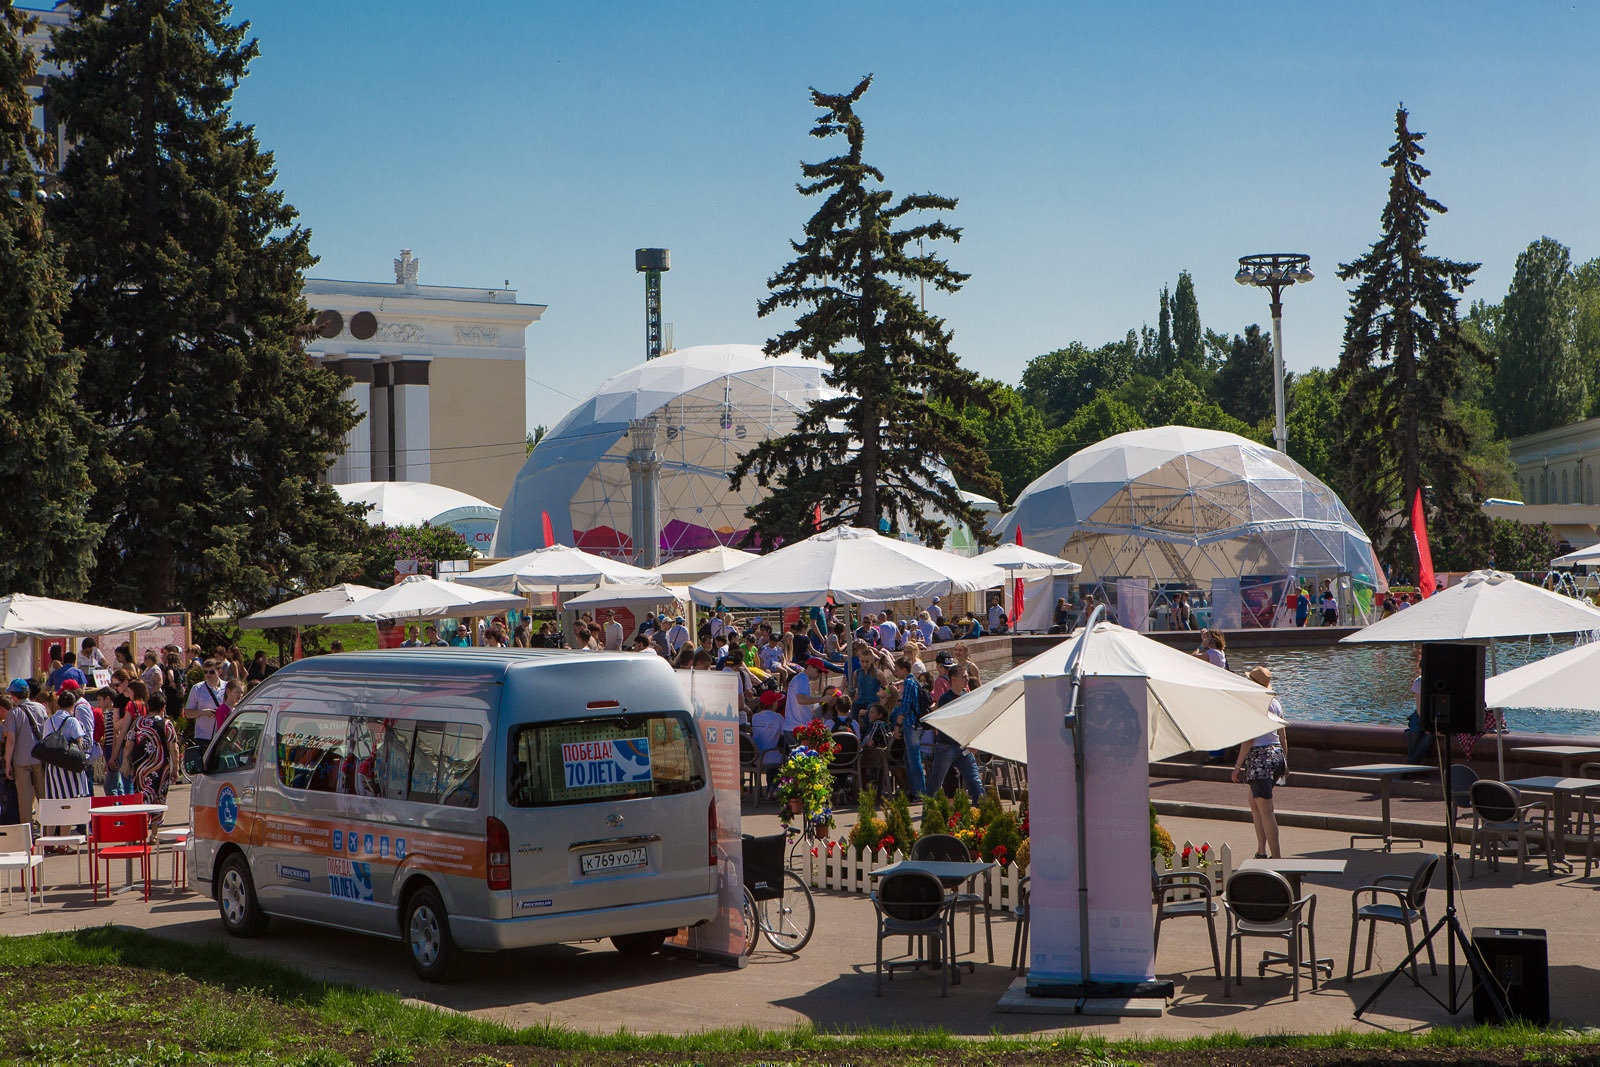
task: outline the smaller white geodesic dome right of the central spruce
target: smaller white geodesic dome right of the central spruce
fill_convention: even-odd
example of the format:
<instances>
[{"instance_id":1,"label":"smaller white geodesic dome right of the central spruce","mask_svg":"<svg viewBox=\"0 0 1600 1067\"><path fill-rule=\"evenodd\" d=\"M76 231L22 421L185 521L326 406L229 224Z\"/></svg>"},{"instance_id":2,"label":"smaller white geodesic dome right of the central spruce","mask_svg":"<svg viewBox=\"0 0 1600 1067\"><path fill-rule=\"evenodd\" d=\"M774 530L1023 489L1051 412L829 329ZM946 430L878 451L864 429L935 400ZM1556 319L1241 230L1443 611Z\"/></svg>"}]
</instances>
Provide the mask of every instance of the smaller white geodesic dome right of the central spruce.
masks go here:
<instances>
[{"instance_id":1,"label":"smaller white geodesic dome right of the central spruce","mask_svg":"<svg viewBox=\"0 0 1600 1067\"><path fill-rule=\"evenodd\" d=\"M1237 434L1163 426L1091 445L1029 485L997 530L1083 565L1074 582L1123 625L1166 629L1182 592L1200 625L1285 624L1285 595L1323 581L1365 622L1382 571L1338 494ZM1315 611L1315 605L1314 605ZM1293 608L1288 611L1293 621Z\"/></svg>"}]
</instances>

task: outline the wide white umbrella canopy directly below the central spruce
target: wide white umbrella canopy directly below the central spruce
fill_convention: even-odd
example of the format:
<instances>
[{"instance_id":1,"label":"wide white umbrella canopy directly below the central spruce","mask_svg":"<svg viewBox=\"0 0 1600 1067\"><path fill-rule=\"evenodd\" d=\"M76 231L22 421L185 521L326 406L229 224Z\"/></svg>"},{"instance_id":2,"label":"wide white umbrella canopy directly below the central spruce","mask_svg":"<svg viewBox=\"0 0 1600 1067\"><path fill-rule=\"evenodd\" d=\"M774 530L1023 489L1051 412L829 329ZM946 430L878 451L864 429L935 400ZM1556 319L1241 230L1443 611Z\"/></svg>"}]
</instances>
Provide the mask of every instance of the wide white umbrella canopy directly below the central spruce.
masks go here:
<instances>
[{"instance_id":1,"label":"wide white umbrella canopy directly below the central spruce","mask_svg":"<svg viewBox=\"0 0 1600 1067\"><path fill-rule=\"evenodd\" d=\"M837 526L731 571L694 582L699 603L722 600L730 608L813 608L829 597L878 603L995 589L1005 571L870 530Z\"/></svg>"}]
</instances>

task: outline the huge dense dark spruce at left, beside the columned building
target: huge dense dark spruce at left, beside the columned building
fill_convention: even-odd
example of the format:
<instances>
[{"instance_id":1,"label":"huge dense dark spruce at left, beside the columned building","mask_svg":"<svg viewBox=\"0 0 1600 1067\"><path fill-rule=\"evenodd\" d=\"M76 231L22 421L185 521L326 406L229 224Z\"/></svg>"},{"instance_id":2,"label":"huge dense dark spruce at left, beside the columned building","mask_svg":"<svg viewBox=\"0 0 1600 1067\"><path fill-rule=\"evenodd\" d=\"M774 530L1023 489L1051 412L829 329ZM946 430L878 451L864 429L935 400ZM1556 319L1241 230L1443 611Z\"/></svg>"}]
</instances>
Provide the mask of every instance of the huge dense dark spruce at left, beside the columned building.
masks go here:
<instances>
[{"instance_id":1,"label":"huge dense dark spruce at left, beside the columned building","mask_svg":"<svg viewBox=\"0 0 1600 1067\"><path fill-rule=\"evenodd\" d=\"M83 0L48 102L74 149L53 221L74 278L67 344L117 477L98 598L254 606L344 576L357 520L320 483L355 414L296 338L310 235L272 155L232 118L256 56L219 0Z\"/></svg>"}]
</instances>

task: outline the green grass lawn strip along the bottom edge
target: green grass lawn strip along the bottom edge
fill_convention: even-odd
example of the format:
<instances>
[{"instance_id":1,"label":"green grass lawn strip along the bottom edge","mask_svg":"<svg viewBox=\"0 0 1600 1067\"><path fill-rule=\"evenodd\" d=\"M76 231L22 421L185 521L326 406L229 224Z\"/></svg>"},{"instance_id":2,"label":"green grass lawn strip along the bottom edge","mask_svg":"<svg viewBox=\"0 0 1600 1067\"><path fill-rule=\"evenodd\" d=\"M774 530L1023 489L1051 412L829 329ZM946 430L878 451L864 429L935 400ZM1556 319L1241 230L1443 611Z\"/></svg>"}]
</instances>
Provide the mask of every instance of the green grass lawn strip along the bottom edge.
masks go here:
<instances>
[{"instance_id":1,"label":"green grass lawn strip along the bottom edge","mask_svg":"<svg viewBox=\"0 0 1600 1067\"><path fill-rule=\"evenodd\" d=\"M1186 1041L957 1038L942 1030L829 1033L814 1027L642 1035L512 1029L406 1005L384 992L104 926L0 939L6 1027L0 1064L186 1067L520 1067L525 1064L1085 1064L1086 1067L1360 1067L1595 1064L1594 1033L1533 1027L1422 1035L1338 1032Z\"/></svg>"}]
</instances>

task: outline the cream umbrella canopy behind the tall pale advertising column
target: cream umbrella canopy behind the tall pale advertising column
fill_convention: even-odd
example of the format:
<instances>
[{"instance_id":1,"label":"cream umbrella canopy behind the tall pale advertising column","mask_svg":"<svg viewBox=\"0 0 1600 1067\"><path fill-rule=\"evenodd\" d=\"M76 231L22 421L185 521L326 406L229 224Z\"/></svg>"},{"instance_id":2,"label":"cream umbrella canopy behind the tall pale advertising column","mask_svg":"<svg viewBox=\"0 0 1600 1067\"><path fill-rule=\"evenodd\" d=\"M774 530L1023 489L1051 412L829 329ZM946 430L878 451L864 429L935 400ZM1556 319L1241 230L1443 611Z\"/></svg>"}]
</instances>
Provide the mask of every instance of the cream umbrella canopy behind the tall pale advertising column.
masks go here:
<instances>
[{"instance_id":1,"label":"cream umbrella canopy behind the tall pale advertising column","mask_svg":"<svg viewBox=\"0 0 1600 1067\"><path fill-rule=\"evenodd\" d=\"M1090 633L1085 645L1085 633ZM1072 672L1082 648L1083 673L1144 678L1150 699L1150 761L1181 752L1226 749L1277 729L1272 689L1112 622L1078 630L994 681L986 681L923 720L963 745L1006 760L1027 760L1029 683ZM1034 713L1061 715L1059 699Z\"/></svg>"}]
</instances>

